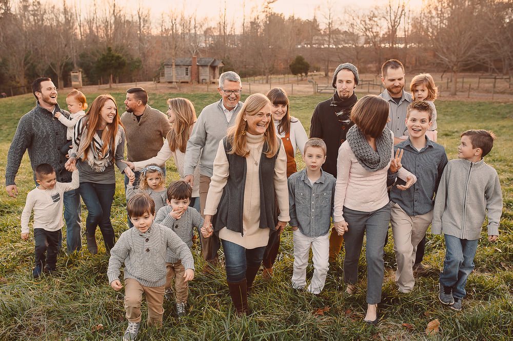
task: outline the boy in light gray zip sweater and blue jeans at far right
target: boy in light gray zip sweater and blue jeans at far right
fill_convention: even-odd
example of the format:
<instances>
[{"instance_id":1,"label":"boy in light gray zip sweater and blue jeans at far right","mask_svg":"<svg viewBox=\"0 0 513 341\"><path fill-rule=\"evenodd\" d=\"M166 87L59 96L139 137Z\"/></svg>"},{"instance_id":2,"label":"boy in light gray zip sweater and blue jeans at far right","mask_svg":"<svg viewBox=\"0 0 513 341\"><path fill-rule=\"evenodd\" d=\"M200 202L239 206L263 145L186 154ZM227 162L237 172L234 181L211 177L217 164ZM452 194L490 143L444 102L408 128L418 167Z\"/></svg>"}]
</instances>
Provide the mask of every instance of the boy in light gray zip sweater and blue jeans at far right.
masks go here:
<instances>
[{"instance_id":1,"label":"boy in light gray zip sweater and blue jeans at far right","mask_svg":"<svg viewBox=\"0 0 513 341\"><path fill-rule=\"evenodd\" d=\"M486 216L488 241L499 236L501 184L497 171L483 159L494 140L494 133L482 129L461 134L459 159L447 163L435 198L431 232L444 233L446 247L438 298L453 310L461 310Z\"/></svg>"}]
</instances>

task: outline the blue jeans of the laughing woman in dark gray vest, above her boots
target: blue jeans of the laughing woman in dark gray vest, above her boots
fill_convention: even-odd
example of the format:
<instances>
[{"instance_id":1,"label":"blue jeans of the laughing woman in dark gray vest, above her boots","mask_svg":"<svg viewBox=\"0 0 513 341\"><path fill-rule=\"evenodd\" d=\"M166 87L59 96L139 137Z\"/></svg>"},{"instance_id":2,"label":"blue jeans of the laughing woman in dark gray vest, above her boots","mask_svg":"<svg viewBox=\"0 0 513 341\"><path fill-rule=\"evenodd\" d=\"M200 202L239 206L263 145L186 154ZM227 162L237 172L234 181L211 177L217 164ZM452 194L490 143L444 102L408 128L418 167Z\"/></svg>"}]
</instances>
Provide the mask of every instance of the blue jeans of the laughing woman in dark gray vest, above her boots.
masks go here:
<instances>
[{"instance_id":1,"label":"blue jeans of the laughing woman in dark gray vest, above her boots","mask_svg":"<svg viewBox=\"0 0 513 341\"><path fill-rule=\"evenodd\" d=\"M246 278L248 266L258 267L264 257L265 246L246 249L243 246L221 239L226 260L226 280L238 283Z\"/></svg>"}]
</instances>

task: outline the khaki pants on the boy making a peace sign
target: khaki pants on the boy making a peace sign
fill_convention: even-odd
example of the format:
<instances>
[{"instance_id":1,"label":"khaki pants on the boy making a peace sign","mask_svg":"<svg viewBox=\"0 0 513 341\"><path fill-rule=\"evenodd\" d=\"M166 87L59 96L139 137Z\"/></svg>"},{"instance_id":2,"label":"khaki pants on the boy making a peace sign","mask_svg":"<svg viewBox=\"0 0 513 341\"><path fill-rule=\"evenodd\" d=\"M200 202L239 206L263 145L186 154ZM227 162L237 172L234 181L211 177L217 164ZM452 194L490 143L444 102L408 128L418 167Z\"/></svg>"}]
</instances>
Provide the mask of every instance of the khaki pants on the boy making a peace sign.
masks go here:
<instances>
[{"instance_id":1,"label":"khaki pants on the boy making a peace sign","mask_svg":"<svg viewBox=\"0 0 513 341\"><path fill-rule=\"evenodd\" d=\"M433 219L433 210L424 215L408 216L396 203L390 203L390 222L392 224L393 251L396 253L396 284L401 292L410 292L415 285L413 264L417 245L426 234Z\"/></svg>"}]
</instances>

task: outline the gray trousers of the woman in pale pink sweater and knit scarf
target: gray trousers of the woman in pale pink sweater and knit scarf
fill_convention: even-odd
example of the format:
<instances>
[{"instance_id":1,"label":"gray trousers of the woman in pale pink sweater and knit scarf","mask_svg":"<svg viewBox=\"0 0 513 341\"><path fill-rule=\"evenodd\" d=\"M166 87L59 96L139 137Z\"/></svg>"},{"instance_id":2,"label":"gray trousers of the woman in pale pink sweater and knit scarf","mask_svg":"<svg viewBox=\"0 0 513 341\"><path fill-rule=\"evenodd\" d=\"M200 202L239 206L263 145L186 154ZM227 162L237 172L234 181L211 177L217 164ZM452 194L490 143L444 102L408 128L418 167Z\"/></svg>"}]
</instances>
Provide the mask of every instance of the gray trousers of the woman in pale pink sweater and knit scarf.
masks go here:
<instances>
[{"instance_id":1,"label":"gray trousers of the woman in pale pink sweater and knit scarf","mask_svg":"<svg viewBox=\"0 0 513 341\"><path fill-rule=\"evenodd\" d=\"M367 303L381 302L381 290L385 275L383 244L388 232L390 203L371 212L362 212L344 206L344 220L347 232L344 233L344 282L354 285L358 281L358 261L362 252L363 236L367 237L365 261L367 262Z\"/></svg>"}]
</instances>

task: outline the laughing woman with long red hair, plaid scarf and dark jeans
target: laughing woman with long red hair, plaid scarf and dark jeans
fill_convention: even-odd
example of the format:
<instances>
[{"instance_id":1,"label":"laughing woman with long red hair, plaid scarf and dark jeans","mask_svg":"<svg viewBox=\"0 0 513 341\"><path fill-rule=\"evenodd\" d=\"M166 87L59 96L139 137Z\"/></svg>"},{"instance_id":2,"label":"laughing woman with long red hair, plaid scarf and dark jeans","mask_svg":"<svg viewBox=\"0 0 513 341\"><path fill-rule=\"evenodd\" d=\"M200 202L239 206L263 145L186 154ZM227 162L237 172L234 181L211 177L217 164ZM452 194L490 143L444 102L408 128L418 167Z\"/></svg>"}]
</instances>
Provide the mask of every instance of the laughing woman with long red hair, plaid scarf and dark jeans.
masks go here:
<instances>
[{"instance_id":1,"label":"laughing woman with long red hair, plaid scarf and dark jeans","mask_svg":"<svg viewBox=\"0 0 513 341\"><path fill-rule=\"evenodd\" d=\"M87 115L75 125L73 148L66 166L76 163L80 172L78 192L86 204L87 249L98 253L96 226L102 231L107 252L114 247L114 228L110 210L116 189L114 164L132 180L132 170L124 161L125 129L117 115L117 105L111 95L94 99Z\"/></svg>"}]
</instances>

